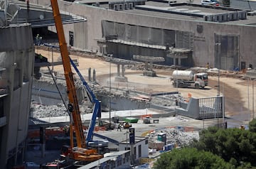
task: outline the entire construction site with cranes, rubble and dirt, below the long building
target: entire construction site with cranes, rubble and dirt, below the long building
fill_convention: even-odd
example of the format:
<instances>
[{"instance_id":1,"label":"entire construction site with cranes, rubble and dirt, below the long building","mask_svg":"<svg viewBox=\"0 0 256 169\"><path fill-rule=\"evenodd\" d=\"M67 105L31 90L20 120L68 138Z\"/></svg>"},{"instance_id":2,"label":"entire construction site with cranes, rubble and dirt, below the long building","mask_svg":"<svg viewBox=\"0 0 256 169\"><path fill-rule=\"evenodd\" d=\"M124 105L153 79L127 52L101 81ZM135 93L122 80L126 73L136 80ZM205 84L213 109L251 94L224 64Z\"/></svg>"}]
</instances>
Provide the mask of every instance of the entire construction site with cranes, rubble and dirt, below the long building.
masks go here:
<instances>
[{"instance_id":1,"label":"entire construction site with cranes, rubble and dirt, below the long building","mask_svg":"<svg viewBox=\"0 0 256 169\"><path fill-rule=\"evenodd\" d=\"M29 3L0 1L3 168L152 168L202 129L255 119L255 58L230 70L230 53L196 62L189 48L135 44L125 58L109 52L114 39L97 39L98 50L78 48L65 28L80 30L85 18L60 11L63 1L47 9Z\"/></svg>"}]
</instances>

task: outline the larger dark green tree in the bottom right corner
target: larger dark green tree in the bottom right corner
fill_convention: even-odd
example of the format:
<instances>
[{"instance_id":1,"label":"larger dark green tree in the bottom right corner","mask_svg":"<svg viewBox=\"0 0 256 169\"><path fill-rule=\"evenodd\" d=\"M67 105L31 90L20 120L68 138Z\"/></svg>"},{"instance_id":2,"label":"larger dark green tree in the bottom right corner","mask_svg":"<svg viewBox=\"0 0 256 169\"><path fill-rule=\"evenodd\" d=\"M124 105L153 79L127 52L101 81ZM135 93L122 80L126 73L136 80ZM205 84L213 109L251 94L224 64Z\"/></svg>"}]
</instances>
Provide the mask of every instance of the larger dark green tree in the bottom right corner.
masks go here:
<instances>
[{"instance_id":1,"label":"larger dark green tree in the bottom right corner","mask_svg":"<svg viewBox=\"0 0 256 169\"><path fill-rule=\"evenodd\" d=\"M211 127L201 131L199 141L193 146L236 166L256 166L256 133L247 130Z\"/></svg>"}]
</instances>

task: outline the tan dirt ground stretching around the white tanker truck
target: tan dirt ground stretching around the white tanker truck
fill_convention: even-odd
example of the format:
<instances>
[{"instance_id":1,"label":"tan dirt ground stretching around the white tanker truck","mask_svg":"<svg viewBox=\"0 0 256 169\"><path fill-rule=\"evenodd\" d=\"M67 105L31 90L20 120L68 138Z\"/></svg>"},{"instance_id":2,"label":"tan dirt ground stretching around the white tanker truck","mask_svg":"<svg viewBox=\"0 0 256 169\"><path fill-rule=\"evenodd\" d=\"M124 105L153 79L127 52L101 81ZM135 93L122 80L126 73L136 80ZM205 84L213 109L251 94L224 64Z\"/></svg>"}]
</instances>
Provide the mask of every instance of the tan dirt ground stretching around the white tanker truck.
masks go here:
<instances>
[{"instance_id":1,"label":"tan dirt ground stretching around the white tanker truck","mask_svg":"<svg viewBox=\"0 0 256 169\"><path fill-rule=\"evenodd\" d=\"M52 53L51 50L36 49L36 53L41 53L44 57L48 58L48 62L53 60L57 61L60 53ZM171 69L154 69L157 77L143 76L142 70L125 69L125 76L128 82L114 82L114 77L117 75L117 65L105 62L102 58L85 57L79 55L70 55L71 58L78 60L78 69L85 76L88 77L88 68L96 71L96 81L102 86L122 87L129 89L137 89L139 91L156 93L156 92L175 92L178 91L183 97L188 97L188 93L192 97L213 97L218 94L218 76L209 75L209 84L205 89L193 88L175 88L171 84ZM140 64L143 65L143 64ZM47 70L46 67L41 68ZM53 67L54 71L63 71L63 66L58 65ZM110 79L111 71L111 79ZM242 80L241 78L229 77L229 75L220 76L220 95L225 96L225 115L245 123L252 118L252 82ZM254 104L254 109L256 104ZM249 108L249 109L248 109Z\"/></svg>"}]
</instances>

